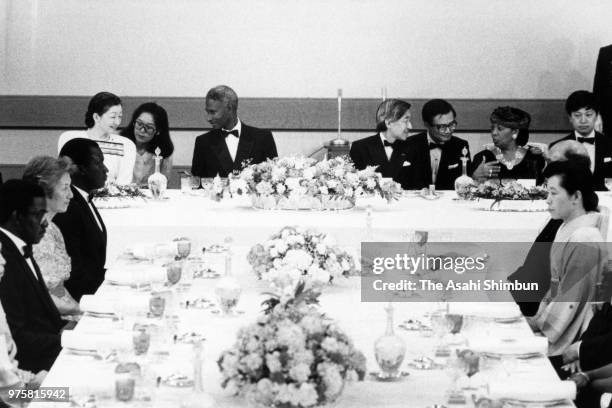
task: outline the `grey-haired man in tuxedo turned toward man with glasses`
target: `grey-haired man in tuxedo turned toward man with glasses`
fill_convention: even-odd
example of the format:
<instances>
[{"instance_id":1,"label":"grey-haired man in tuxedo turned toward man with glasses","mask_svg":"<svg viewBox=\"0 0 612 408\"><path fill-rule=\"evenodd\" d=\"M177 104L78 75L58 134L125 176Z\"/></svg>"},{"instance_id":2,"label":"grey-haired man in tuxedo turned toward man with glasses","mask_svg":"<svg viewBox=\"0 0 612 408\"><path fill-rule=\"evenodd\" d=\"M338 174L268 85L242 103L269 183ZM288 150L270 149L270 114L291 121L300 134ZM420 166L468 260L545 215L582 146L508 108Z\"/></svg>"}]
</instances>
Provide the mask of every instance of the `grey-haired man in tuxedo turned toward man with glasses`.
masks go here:
<instances>
[{"instance_id":1,"label":"grey-haired man in tuxedo turned toward man with glasses","mask_svg":"<svg viewBox=\"0 0 612 408\"><path fill-rule=\"evenodd\" d=\"M376 166L383 177L394 181L406 181L410 165L403 160L406 152L403 144L410 135L410 104L399 99L387 99L376 110L378 134L359 139L351 145L350 156L359 170Z\"/></svg>"}]
</instances>

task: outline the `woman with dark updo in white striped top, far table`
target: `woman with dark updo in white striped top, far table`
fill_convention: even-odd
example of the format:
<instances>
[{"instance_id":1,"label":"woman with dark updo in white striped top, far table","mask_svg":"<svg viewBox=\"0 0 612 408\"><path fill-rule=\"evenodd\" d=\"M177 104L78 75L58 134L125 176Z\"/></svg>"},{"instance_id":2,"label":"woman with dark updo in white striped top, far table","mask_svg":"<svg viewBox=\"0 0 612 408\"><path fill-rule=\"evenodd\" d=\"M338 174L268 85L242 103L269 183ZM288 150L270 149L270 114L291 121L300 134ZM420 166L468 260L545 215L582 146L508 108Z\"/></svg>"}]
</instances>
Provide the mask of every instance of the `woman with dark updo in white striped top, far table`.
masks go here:
<instances>
[{"instance_id":1,"label":"woman with dark updo in white striped top, far table","mask_svg":"<svg viewBox=\"0 0 612 408\"><path fill-rule=\"evenodd\" d=\"M60 135L57 151L71 139L86 138L94 140L104 154L104 164L108 168L108 181L117 184L130 184L136 160L136 146L131 140L118 135L123 108L121 99L110 92L99 92L89 101L85 112L87 130L70 130Z\"/></svg>"}]
</instances>

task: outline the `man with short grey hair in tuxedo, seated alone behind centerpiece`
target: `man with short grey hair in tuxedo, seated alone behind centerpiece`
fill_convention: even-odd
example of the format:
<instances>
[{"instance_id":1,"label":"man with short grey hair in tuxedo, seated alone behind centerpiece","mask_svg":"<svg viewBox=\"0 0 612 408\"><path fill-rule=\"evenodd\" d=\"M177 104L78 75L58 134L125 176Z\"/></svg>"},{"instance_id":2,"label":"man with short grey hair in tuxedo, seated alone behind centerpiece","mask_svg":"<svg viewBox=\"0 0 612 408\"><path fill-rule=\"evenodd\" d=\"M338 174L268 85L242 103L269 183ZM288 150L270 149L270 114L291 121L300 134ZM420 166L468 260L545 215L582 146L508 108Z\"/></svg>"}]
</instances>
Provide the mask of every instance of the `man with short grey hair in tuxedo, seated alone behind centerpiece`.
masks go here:
<instances>
[{"instance_id":1,"label":"man with short grey hair in tuxedo, seated alone behind centerpiece","mask_svg":"<svg viewBox=\"0 0 612 408\"><path fill-rule=\"evenodd\" d=\"M238 118L238 95L220 85L206 94L206 116L213 130L196 138L191 173L199 177L227 177L245 164L272 159L276 144L269 130L248 126Z\"/></svg>"}]
</instances>

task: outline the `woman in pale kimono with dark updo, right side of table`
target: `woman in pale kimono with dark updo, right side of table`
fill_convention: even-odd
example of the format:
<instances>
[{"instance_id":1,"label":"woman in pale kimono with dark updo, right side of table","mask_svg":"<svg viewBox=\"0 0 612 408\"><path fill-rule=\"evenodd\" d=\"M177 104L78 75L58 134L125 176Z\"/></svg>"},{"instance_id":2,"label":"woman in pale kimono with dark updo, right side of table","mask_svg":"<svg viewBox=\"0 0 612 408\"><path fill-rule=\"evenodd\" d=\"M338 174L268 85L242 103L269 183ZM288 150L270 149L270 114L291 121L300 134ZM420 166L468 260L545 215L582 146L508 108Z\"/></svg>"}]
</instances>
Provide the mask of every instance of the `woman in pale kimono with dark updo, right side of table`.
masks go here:
<instances>
[{"instance_id":1,"label":"woman in pale kimono with dark updo, right side of table","mask_svg":"<svg viewBox=\"0 0 612 408\"><path fill-rule=\"evenodd\" d=\"M548 211L562 223L550 249L550 288L531 323L548 338L553 357L562 356L583 334L593 316L591 302L609 301L597 289L608 254L590 169L572 160L557 161L543 175Z\"/></svg>"}]
</instances>

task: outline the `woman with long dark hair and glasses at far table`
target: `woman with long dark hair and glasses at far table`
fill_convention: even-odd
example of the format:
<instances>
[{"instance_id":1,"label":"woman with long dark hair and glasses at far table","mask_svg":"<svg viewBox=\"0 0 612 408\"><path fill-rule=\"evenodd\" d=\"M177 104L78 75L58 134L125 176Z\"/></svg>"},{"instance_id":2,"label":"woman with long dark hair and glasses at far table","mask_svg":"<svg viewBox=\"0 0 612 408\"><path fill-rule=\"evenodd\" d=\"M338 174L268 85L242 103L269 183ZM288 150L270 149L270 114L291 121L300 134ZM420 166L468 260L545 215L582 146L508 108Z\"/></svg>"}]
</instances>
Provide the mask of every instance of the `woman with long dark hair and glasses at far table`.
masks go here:
<instances>
[{"instance_id":1,"label":"woman with long dark hair and glasses at far table","mask_svg":"<svg viewBox=\"0 0 612 408\"><path fill-rule=\"evenodd\" d=\"M134 111L130 124L121 132L136 145L133 183L147 185L147 179L155 171L157 148L162 157L161 172L170 179L174 145L169 128L166 110L155 102L143 103Z\"/></svg>"}]
</instances>

